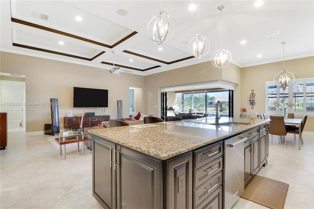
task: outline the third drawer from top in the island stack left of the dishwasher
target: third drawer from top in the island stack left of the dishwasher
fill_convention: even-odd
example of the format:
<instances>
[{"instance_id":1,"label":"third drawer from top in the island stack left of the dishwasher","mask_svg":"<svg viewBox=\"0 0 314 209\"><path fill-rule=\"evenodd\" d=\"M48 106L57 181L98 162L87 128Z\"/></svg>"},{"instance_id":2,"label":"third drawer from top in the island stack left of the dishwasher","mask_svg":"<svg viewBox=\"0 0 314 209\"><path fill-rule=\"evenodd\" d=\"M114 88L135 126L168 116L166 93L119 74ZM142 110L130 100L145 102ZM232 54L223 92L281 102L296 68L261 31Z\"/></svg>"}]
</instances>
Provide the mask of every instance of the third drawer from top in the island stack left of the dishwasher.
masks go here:
<instances>
[{"instance_id":1,"label":"third drawer from top in the island stack left of the dishwasher","mask_svg":"<svg viewBox=\"0 0 314 209\"><path fill-rule=\"evenodd\" d=\"M193 206L196 207L200 204L220 185L222 185L222 172L217 173L209 181L193 190Z\"/></svg>"}]
</instances>

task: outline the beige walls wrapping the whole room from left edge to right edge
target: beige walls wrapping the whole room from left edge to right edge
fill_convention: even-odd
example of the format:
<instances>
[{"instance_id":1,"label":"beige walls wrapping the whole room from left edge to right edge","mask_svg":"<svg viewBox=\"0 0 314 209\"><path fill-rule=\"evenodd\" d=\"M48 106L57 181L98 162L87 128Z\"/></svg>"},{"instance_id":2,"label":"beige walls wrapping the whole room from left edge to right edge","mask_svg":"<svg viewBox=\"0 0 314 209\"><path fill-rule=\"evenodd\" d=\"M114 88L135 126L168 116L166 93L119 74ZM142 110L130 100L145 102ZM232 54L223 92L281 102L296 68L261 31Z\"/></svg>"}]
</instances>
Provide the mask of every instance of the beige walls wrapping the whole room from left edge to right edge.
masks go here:
<instances>
[{"instance_id":1,"label":"beige walls wrapping the whole room from left edge to right edge","mask_svg":"<svg viewBox=\"0 0 314 209\"><path fill-rule=\"evenodd\" d=\"M230 64L224 69L218 69L213 67L211 62L205 62L145 77L132 74L122 74L119 77L77 64L8 52L1 52L0 55L1 72L26 75L27 103L50 102L50 98L57 98L59 103L63 103L59 106L60 123L63 123L67 110L72 110L74 115L82 113L82 108L73 108L73 86L108 89L109 107L105 109L105 113L111 118L116 118L117 100L123 101L123 117L129 116L130 87L138 88L136 111L159 115L155 105L158 107L160 105L160 87L227 80L237 83L235 117L239 117L241 107L246 107L249 114L255 114L256 111L262 113L265 112L265 81L271 81L283 67L282 62L276 62L242 69ZM286 60L285 66L293 71L297 78L314 77L314 57ZM248 103L252 89L256 94L256 105L253 110ZM139 106L138 101L142 101ZM101 108L88 111L102 114ZM43 131L45 123L51 123L50 107L26 106L26 132ZM313 117L308 117L305 131L314 131Z\"/></svg>"}]
</instances>

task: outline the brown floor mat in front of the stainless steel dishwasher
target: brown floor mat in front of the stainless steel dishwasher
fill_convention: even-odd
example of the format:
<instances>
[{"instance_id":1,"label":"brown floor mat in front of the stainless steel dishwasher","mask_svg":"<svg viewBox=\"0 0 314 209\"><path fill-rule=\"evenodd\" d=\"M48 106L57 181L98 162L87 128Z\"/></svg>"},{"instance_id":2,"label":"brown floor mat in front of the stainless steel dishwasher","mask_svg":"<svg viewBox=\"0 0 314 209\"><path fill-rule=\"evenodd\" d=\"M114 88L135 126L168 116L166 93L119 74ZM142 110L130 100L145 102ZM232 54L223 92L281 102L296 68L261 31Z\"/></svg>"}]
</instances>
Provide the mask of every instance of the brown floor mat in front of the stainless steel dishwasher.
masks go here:
<instances>
[{"instance_id":1,"label":"brown floor mat in front of the stainless steel dishwasher","mask_svg":"<svg viewBox=\"0 0 314 209\"><path fill-rule=\"evenodd\" d=\"M245 187L241 198L271 209L283 209L286 202L288 183L262 176L255 176Z\"/></svg>"}]
</instances>

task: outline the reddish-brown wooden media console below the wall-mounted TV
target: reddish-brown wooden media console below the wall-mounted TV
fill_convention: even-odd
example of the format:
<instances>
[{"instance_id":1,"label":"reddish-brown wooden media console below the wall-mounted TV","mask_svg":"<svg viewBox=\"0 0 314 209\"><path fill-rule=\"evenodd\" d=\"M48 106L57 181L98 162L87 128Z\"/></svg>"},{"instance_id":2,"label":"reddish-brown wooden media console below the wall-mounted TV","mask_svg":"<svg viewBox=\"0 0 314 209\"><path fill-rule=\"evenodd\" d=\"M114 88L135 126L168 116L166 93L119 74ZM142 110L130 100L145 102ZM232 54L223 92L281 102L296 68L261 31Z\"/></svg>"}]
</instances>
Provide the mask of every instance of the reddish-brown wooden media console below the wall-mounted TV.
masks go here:
<instances>
[{"instance_id":1,"label":"reddish-brown wooden media console below the wall-mounted TV","mask_svg":"<svg viewBox=\"0 0 314 209\"><path fill-rule=\"evenodd\" d=\"M64 128L65 129L77 129L80 126L80 119L81 116L74 116L74 117L64 117ZM109 121L110 115L95 115L95 116L84 116L83 117L83 124L82 128L86 127L94 127L98 124Z\"/></svg>"}]
</instances>

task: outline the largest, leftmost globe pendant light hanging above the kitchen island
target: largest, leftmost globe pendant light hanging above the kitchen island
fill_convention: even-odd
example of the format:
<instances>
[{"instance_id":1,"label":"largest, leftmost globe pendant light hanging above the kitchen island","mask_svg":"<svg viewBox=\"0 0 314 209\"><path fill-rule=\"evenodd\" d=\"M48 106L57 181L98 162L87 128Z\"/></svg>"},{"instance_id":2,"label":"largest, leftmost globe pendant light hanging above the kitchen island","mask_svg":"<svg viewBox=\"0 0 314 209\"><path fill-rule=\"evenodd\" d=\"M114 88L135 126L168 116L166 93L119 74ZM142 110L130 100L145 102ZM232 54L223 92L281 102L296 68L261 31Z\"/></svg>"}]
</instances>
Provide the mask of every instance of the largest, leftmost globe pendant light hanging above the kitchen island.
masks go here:
<instances>
[{"instance_id":1,"label":"largest, leftmost globe pendant light hanging above the kitchen island","mask_svg":"<svg viewBox=\"0 0 314 209\"><path fill-rule=\"evenodd\" d=\"M159 14L153 17L147 25L147 33L155 44L162 44L171 38L174 24L167 12L161 11L161 0L159 1Z\"/></svg>"}]
</instances>

